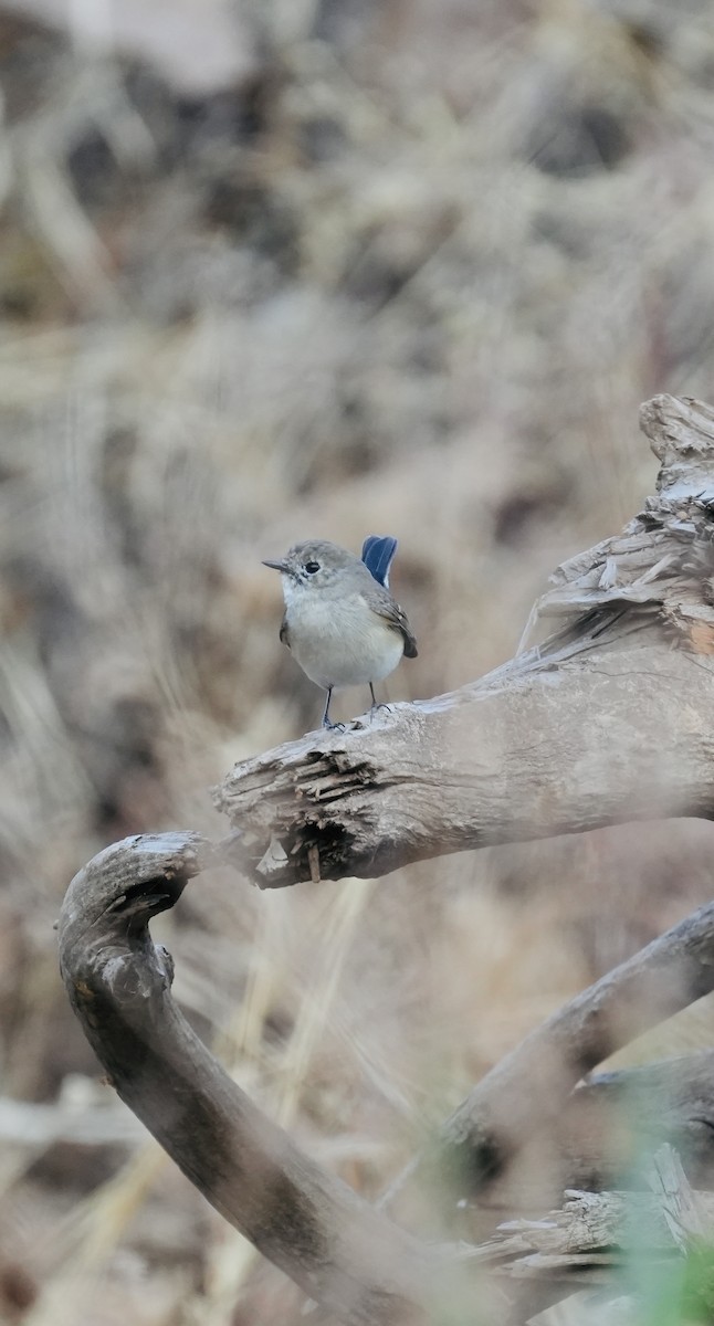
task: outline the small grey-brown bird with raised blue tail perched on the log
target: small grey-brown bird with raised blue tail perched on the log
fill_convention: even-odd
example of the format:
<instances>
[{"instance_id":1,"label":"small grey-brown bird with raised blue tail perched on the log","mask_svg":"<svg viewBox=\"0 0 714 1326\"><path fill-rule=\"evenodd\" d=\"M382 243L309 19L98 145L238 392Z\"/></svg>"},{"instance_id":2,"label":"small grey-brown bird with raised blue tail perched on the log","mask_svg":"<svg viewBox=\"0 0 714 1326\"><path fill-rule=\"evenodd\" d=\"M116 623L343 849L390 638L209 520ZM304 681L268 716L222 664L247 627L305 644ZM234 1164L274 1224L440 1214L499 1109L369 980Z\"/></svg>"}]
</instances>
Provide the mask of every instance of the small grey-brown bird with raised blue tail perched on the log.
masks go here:
<instances>
[{"instance_id":1,"label":"small grey-brown bird with raised blue tail perched on the log","mask_svg":"<svg viewBox=\"0 0 714 1326\"><path fill-rule=\"evenodd\" d=\"M340 686L369 684L394 671L402 655L417 658L417 640L406 613L389 593L394 538L365 540L365 561L326 540L296 544L281 561L265 561L283 578L285 614L280 639L311 682L328 692L322 727L329 720L332 692ZM372 569L370 569L372 568Z\"/></svg>"}]
</instances>

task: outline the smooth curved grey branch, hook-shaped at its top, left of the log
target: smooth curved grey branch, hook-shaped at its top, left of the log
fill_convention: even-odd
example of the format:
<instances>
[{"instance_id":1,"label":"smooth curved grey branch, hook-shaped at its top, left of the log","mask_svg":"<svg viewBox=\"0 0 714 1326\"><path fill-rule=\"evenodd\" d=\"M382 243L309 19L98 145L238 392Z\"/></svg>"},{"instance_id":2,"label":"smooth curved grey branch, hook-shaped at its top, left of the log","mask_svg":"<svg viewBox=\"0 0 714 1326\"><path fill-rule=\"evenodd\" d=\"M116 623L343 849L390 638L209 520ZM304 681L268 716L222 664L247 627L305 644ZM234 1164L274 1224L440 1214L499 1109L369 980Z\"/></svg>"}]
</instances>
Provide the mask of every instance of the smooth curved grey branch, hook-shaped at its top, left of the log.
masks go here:
<instances>
[{"instance_id":1,"label":"smooth curved grey branch, hook-shaped at its top, left of the log","mask_svg":"<svg viewBox=\"0 0 714 1326\"><path fill-rule=\"evenodd\" d=\"M113 1086L211 1205L341 1321L417 1322L438 1260L315 1164L231 1081L178 1012L151 916L214 853L139 835L73 879L60 916L69 998Z\"/></svg>"}]
</instances>

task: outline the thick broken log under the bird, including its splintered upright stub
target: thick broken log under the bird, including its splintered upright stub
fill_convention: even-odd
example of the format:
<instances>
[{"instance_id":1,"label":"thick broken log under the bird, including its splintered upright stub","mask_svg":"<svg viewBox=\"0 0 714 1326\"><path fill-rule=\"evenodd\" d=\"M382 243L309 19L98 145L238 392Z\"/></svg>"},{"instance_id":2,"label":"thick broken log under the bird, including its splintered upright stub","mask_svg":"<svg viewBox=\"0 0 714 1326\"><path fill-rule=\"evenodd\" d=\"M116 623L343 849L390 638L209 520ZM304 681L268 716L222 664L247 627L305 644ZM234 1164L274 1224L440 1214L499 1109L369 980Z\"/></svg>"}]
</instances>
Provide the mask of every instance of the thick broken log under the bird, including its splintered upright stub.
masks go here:
<instances>
[{"instance_id":1,"label":"thick broken log under the bird, including its splintered upright stub","mask_svg":"<svg viewBox=\"0 0 714 1326\"><path fill-rule=\"evenodd\" d=\"M534 614L559 627L543 646L451 695L236 765L216 804L256 883L714 817L714 411L658 396L642 427L658 495L559 569Z\"/></svg>"}]
</instances>

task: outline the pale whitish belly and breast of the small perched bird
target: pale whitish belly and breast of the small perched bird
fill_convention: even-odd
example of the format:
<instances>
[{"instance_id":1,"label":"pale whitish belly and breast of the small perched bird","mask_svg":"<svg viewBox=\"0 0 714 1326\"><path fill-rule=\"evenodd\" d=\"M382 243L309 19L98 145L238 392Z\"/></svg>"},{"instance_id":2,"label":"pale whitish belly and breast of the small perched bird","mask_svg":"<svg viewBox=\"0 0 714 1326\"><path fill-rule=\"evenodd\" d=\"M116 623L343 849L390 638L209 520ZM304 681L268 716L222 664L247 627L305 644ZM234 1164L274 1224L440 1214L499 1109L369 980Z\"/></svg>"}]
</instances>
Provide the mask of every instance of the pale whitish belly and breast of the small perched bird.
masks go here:
<instances>
[{"instance_id":1,"label":"pale whitish belly and breast of the small perched bird","mask_svg":"<svg viewBox=\"0 0 714 1326\"><path fill-rule=\"evenodd\" d=\"M296 595L297 598L297 595ZM291 650L311 682L328 690L381 682L403 654L403 639L364 598L300 595L288 611Z\"/></svg>"}]
</instances>

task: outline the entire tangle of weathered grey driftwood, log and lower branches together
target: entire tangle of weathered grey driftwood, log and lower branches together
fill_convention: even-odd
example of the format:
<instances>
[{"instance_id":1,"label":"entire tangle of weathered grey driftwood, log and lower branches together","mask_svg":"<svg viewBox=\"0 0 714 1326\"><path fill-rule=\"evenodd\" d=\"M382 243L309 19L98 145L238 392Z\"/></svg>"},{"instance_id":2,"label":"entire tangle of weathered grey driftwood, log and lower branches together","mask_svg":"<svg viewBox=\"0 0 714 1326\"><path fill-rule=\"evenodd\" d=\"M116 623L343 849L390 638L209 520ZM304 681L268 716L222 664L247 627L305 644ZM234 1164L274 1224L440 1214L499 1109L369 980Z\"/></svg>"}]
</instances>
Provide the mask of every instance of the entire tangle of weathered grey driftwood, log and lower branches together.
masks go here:
<instances>
[{"instance_id":1,"label":"entire tangle of weathered grey driftwood, log and lower branches together","mask_svg":"<svg viewBox=\"0 0 714 1326\"><path fill-rule=\"evenodd\" d=\"M556 573L534 614L557 622L543 644L454 695L246 761L216 792L235 830L223 843L126 839L68 891L62 975L118 1094L216 1209L341 1321L435 1319L445 1294L471 1301L464 1266L479 1257L454 1256L442 1212L441 1245L399 1228L252 1105L177 1010L171 960L149 922L218 861L275 887L636 817L713 815L714 411L660 396L642 426L662 463L657 496L622 536ZM411 1180L435 1163L453 1179L450 1213L503 1200L499 1184L524 1138L537 1143L553 1123L559 1181L599 1184L616 1166L603 1119L633 1089L652 1105L653 1138L664 1124L685 1154L711 1164L711 1054L587 1074L713 988L714 904L534 1032L384 1205L401 1213ZM506 1187L506 1200L518 1200L518 1181ZM486 1293L480 1278L482 1311ZM484 1319L522 1317L518 1296L486 1306Z\"/></svg>"}]
</instances>

